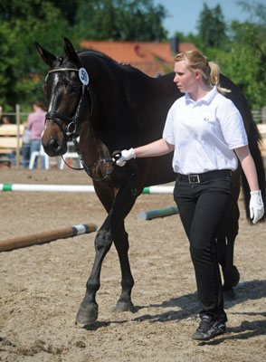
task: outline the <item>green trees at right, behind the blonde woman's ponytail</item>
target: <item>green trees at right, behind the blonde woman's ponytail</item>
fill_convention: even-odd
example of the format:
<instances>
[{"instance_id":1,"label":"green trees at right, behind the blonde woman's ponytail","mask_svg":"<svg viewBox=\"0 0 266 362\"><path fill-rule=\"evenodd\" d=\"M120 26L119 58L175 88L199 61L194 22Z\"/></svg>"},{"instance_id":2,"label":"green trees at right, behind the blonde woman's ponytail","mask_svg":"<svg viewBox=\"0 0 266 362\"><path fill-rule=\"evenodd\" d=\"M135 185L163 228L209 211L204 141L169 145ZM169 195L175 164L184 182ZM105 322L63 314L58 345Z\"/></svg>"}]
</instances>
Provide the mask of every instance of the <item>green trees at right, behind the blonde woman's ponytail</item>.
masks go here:
<instances>
[{"instance_id":1,"label":"green trees at right, behind the blonde woman's ponytail","mask_svg":"<svg viewBox=\"0 0 266 362\"><path fill-rule=\"evenodd\" d=\"M198 23L203 43L195 44L242 89L252 109L258 110L266 104L266 5L248 0L238 5L250 14L250 21L226 26L220 6L210 9L204 4Z\"/></svg>"}]
</instances>

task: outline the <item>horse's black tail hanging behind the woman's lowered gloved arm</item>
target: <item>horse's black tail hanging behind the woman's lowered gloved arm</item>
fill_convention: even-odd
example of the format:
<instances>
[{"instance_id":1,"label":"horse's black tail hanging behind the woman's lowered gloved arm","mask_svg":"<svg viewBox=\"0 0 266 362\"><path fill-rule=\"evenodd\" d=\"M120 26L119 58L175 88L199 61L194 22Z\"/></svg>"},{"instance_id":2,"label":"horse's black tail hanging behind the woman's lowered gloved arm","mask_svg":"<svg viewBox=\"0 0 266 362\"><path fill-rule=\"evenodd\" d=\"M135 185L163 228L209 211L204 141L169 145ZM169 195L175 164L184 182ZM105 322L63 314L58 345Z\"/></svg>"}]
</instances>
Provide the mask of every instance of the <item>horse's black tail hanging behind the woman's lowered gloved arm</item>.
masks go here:
<instances>
[{"instance_id":1,"label":"horse's black tail hanging behind the woman's lowered gloved arm","mask_svg":"<svg viewBox=\"0 0 266 362\"><path fill-rule=\"evenodd\" d=\"M251 122L250 122L249 134L248 134L249 148L251 150L251 154L254 159L255 167L257 170L262 200L264 202L264 205L266 205L266 203L265 203L265 201L266 201L266 179L265 179L265 171L264 171L264 166L263 166L263 159L261 157L261 151L260 151L261 134L252 117L251 110L250 110L250 117L251 117ZM252 222L250 219L250 216L249 216L250 215L249 204L250 204L250 199L251 199L250 187L247 183L247 179L244 176L243 172L242 172L242 192L243 192L243 197L244 197L246 216L247 216L247 219L250 222ZM266 219L266 215L264 214L260 221L265 221L265 219Z\"/></svg>"}]
</instances>

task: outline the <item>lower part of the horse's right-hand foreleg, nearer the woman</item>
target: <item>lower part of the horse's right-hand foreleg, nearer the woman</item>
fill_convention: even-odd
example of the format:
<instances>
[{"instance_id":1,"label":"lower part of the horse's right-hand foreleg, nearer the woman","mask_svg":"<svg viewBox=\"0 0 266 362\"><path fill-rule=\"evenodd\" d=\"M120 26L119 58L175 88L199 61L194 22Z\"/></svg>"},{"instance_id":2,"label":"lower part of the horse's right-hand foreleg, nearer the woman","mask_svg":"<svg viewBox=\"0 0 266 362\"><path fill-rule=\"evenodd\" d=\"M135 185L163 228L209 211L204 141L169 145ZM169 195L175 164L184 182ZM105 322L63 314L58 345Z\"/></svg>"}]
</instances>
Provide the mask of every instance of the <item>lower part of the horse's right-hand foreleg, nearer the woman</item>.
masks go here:
<instances>
[{"instance_id":1,"label":"lower part of the horse's right-hand foreleg, nearer the woman","mask_svg":"<svg viewBox=\"0 0 266 362\"><path fill-rule=\"evenodd\" d=\"M131 291L134 285L134 279L128 260L128 233L125 231L124 223L117 225L113 239L119 254L122 287L122 292L114 311L133 311L134 306L131 301Z\"/></svg>"}]
</instances>

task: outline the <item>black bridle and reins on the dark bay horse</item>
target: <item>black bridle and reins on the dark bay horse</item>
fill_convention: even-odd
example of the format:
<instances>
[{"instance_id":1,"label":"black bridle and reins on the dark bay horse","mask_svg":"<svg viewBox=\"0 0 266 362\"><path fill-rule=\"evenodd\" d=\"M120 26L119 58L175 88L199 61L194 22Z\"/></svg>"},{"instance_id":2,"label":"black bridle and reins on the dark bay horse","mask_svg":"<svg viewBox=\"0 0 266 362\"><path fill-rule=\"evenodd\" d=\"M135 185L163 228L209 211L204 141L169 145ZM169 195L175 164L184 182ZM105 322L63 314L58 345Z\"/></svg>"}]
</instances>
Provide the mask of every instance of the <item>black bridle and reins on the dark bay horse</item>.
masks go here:
<instances>
[{"instance_id":1,"label":"black bridle and reins on the dark bay horse","mask_svg":"<svg viewBox=\"0 0 266 362\"><path fill-rule=\"evenodd\" d=\"M46 116L45 116L45 123L47 121L47 119L51 119L58 127L59 129L61 129L62 131L62 134L65 138L65 141L68 142L70 140L73 141L73 144L74 144L74 147L75 147L75 150L80 158L80 161L81 161L81 165L82 167L81 168L77 168L77 167L71 167L70 165L67 164L67 162L64 160L64 158L62 157L62 160L63 162L68 166L68 167L71 167L72 169L74 170L85 170L87 172L87 174L94 180L94 181L102 181L104 179L106 179L112 172L112 167L115 165L116 163L116 159L119 158L119 154L118 152L116 151L116 157L115 159L114 158L100 158L98 159L97 161L93 162L92 164L90 164L89 166L87 166L85 164L85 161L84 161L84 158L81 154L81 150L80 150L80 145L79 145L79 142L77 140L77 136L76 136L76 132L77 132L77 125L78 125L78 119L80 117L80 111L81 111L81 103L82 103L82 100L84 98L84 94L85 94L85 90L89 90L90 92L90 89L88 87L88 84L89 84L89 75L87 73L87 71L85 70L85 68L80 68L80 69L77 69L77 68L57 68L57 69L52 69L51 71L48 71L46 77L45 77L45 81L47 81L47 78L49 76L49 74L53 73L53 72L59 72L59 71L78 71L79 72L79 76L80 76L80 80L81 80L81 83L82 83L82 89L81 89L81 96L80 96L80 100L79 100L79 103L78 103L78 106L77 106L77 109L73 115L72 118L68 117L68 116L65 116L64 114L62 113L57 113L57 112L47 112L46 113ZM91 97L90 97L91 99ZM90 116L91 116L91 113L92 113L92 105L90 104ZM62 120L65 120L66 122L68 122L68 126L67 126L67 131L65 131L63 128L62 128L62 124L57 120L57 119L62 119ZM90 169L92 167L95 167L97 166L98 164L100 163L103 163L103 164L107 164L107 163L110 163L110 167L107 168L106 170L106 173L100 177L100 178L95 178L91 172L90 172Z\"/></svg>"}]
</instances>

